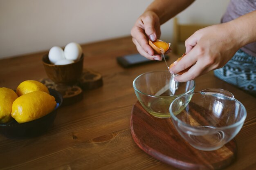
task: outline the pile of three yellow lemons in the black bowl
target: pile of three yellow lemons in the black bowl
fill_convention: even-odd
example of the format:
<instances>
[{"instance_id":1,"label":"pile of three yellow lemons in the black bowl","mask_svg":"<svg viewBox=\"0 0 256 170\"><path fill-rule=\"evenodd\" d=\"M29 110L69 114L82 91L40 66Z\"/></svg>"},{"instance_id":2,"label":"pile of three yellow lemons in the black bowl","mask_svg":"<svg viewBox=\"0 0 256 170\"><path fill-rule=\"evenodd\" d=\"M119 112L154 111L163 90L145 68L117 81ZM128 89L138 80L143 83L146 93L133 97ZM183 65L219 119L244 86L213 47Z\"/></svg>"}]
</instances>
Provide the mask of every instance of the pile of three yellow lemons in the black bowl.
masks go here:
<instances>
[{"instance_id":1,"label":"pile of three yellow lemons in the black bowl","mask_svg":"<svg viewBox=\"0 0 256 170\"><path fill-rule=\"evenodd\" d=\"M35 80L20 83L16 93L0 88L0 123L10 121L11 117L18 123L32 121L51 113L55 106L55 98L48 88Z\"/></svg>"}]
</instances>

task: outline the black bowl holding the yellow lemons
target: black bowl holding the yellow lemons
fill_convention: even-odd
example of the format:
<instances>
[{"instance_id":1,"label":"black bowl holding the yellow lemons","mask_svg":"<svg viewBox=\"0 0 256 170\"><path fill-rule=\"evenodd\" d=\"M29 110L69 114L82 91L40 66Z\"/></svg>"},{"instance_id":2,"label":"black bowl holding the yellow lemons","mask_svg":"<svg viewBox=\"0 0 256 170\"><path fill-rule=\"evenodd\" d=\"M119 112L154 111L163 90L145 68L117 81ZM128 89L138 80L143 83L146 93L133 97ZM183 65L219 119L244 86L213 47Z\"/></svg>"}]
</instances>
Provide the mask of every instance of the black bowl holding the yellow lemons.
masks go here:
<instances>
[{"instance_id":1,"label":"black bowl holding the yellow lemons","mask_svg":"<svg viewBox=\"0 0 256 170\"><path fill-rule=\"evenodd\" d=\"M0 133L10 139L25 139L36 137L50 128L57 115L57 109L63 102L61 93L49 88L50 95L54 96L57 103L56 108L49 114L39 119L19 124L16 120L0 124Z\"/></svg>"}]
</instances>

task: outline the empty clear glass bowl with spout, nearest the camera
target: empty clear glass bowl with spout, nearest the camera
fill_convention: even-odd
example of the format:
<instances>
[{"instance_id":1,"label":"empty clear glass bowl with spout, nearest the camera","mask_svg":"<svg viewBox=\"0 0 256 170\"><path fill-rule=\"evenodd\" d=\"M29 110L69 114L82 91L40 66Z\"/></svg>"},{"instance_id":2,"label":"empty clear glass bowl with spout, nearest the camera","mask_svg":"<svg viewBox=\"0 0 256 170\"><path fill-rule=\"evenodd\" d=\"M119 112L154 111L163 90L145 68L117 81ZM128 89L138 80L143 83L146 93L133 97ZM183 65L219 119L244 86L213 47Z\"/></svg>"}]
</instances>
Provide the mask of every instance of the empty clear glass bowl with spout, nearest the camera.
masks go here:
<instances>
[{"instance_id":1,"label":"empty clear glass bowl with spout, nearest the camera","mask_svg":"<svg viewBox=\"0 0 256 170\"><path fill-rule=\"evenodd\" d=\"M219 88L177 97L169 109L180 135L194 148L206 151L217 150L233 139L247 115L232 93Z\"/></svg>"}]
</instances>

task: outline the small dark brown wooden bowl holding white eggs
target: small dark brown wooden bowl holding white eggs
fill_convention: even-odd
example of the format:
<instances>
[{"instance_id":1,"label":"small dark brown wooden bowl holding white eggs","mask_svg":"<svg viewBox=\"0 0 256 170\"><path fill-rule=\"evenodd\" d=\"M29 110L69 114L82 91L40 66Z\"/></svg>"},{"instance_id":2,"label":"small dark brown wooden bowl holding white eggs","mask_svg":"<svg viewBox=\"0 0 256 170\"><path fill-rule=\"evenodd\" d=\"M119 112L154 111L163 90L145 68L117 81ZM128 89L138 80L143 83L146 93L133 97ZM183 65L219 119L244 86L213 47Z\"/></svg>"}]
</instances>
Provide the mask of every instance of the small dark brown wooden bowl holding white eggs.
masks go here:
<instances>
[{"instance_id":1,"label":"small dark brown wooden bowl holding white eggs","mask_svg":"<svg viewBox=\"0 0 256 170\"><path fill-rule=\"evenodd\" d=\"M83 53L78 61L66 65L51 64L48 54L43 56L42 61L47 76L57 84L74 84L83 72Z\"/></svg>"}]
</instances>

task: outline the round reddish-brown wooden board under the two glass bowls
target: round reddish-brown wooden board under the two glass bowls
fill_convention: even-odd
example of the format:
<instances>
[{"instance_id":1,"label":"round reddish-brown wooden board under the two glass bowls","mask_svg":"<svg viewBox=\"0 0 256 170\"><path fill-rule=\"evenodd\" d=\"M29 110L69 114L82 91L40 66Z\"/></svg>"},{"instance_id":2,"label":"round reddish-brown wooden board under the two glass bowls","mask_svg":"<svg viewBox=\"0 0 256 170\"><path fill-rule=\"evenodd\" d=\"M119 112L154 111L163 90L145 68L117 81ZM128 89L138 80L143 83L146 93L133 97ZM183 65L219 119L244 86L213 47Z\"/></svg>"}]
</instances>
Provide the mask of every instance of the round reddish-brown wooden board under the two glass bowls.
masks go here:
<instances>
[{"instance_id":1,"label":"round reddish-brown wooden board under the two glass bowls","mask_svg":"<svg viewBox=\"0 0 256 170\"><path fill-rule=\"evenodd\" d=\"M139 148L182 170L219 170L229 166L236 158L235 140L218 150L197 150L179 135L171 118L153 117L139 102L132 108L130 127Z\"/></svg>"}]
</instances>

